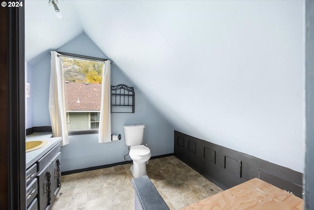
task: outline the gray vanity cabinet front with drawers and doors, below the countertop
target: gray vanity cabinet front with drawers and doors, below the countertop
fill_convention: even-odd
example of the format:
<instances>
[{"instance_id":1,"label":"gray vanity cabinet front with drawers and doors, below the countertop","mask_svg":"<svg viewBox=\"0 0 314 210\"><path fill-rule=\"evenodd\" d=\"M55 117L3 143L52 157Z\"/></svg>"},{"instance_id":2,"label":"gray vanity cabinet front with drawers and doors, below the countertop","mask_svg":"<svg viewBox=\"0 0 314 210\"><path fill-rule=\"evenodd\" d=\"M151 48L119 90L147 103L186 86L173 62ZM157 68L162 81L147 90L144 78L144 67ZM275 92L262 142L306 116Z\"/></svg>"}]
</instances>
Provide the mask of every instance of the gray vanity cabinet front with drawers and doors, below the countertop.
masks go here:
<instances>
[{"instance_id":1,"label":"gray vanity cabinet front with drawers and doors, below the countertop","mask_svg":"<svg viewBox=\"0 0 314 210\"><path fill-rule=\"evenodd\" d=\"M27 210L51 209L61 187L60 161L61 152L58 143L27 169Z\"/></svg>"}]
</instances>

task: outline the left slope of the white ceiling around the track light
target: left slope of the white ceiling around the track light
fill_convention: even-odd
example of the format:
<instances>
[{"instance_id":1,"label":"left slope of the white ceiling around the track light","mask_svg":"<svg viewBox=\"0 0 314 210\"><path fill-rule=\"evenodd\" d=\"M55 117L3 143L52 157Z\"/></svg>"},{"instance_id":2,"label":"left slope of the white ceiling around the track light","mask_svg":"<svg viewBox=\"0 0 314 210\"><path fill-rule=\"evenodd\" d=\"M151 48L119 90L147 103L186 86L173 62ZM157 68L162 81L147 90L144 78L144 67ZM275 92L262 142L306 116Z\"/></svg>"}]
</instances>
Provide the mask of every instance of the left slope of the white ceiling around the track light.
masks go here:
<instances>
[{"instance_id":1,"label":"left slope of the white ceiling around the track light","mask_svg":"<svg viewBox=\"0 0 314 210\"><path fill-rule=\"evenodd\" d=\"M49 0L26 0L25 59L32 64L83 32L74 1L60 0L57 5L62 19L56 18Z\"/></svg>"}]
</instances>

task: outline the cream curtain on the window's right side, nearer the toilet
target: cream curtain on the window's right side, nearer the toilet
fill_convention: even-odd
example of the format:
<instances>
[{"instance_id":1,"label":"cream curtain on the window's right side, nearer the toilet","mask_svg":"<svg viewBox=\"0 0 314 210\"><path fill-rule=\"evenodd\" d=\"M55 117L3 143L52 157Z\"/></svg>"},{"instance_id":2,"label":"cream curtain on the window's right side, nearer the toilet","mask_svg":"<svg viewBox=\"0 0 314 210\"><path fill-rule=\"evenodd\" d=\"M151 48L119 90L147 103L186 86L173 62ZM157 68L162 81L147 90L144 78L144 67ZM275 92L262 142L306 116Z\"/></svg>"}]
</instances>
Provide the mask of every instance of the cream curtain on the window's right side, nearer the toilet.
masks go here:
<instances>
[{"instance_id":1,"label":"cream curtain on the window's right side, nearer the toilet","mask_svg":"<svg viewBox=\"0 0 314 210\"><path fill-rule=\"evenodd\" d=\"M110 60L103 66L102 102L100 108L100 122L98 142L111 142L111 95L110 95Z\"/></svg>"}]
</instances>

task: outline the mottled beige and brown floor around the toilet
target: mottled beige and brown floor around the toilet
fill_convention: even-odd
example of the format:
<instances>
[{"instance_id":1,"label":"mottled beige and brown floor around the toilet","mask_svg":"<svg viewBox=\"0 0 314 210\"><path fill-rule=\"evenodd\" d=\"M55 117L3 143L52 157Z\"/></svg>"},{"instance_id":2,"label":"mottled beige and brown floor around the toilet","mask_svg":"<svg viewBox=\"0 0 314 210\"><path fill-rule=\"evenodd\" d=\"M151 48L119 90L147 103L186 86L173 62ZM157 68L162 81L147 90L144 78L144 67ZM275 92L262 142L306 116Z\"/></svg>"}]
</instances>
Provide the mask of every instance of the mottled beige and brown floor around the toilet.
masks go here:
<instances>
[{"instance_id":1,"label":"mottled beige and brown floor around the toilet","mask_svg":"<svg viewBox=\"0 0 314 210\"><path fill-rule=\"evenodd\" d=\"M126 164L62 176L52 210L133 210L130 167ZM147 173L171 210L222 191L175 156L150 160Z\"/></svg>"}]
</instances>

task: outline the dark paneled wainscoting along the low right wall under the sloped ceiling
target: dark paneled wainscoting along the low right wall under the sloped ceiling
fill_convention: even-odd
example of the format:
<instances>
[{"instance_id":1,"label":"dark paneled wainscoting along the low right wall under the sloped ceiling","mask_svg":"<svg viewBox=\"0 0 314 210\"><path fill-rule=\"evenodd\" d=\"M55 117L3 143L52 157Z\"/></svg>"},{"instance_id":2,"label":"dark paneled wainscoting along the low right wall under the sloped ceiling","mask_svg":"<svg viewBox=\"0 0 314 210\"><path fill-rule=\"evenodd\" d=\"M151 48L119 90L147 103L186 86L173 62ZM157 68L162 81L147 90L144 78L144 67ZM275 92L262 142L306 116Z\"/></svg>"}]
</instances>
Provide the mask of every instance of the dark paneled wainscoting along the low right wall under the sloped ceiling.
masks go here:
<instances>
[{"instance_id":1,"label":"dark paneled wainscoting along the low right wall under the sloped ceiling","mask_svg":"<svg viewBox=\"0 0 314 210\"><path fill-rule=\"evenodd\" d=\"M253 178L302 198L300 172L175 131L174 155L223 189Z\"/></svg>"}]
</instances>

